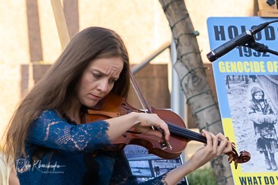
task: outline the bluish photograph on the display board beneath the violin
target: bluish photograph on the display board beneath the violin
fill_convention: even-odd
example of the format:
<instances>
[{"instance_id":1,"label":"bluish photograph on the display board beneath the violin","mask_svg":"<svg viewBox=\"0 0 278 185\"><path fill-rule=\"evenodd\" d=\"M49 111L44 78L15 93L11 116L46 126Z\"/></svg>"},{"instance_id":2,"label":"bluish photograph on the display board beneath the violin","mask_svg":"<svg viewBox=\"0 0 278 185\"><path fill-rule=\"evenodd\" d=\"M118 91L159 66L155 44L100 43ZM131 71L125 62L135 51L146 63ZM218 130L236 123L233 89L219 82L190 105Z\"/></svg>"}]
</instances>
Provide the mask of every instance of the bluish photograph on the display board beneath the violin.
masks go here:
<instances>
[{"instance_id":1,"label":"bluish photograph on the display board beneath the violin","mask_svg":"<svg viewBox=\"0 0 278 185\"><path fill-rule=\"evenodd\" d=\"M163 175L183 164L181 157L162 159L156 155L149 155L147 149L141 146L128 145L124 148L124 153L129 160L131 172L137 177L138 183ZM179 184L188 185L187 178L183 178Z\"/></svg>"}]
</instances>

